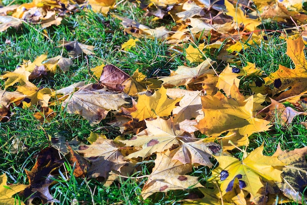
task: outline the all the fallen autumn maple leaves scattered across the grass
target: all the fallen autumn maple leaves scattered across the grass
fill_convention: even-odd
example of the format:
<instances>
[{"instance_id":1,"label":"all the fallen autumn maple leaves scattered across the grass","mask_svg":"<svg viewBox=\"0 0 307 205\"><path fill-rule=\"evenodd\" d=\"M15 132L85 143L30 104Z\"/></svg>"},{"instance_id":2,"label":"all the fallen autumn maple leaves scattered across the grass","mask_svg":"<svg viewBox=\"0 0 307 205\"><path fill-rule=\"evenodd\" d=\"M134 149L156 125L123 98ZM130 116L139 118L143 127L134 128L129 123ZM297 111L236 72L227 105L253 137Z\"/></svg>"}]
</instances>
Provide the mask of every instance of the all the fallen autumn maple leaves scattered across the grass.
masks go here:
<instances>
[{"instance_id":1,"label":"all the fallen autumn maple leaves scattered across the grass","mask_svg":"<svg viewBox=\"0 0 307 205\"><path fill-rule=\"evenodd\" d=\"M257 15L254 11L244 13L249 5L234 7L227 0L225 4L212 5L203 1L139 2L148 10L148 15L157 18L171 15L177 23L173 28L176 32L165 27L149 28L114 14L132 36L165 39L184 50L190 63L196 63L195 67L179 66L168 77L147 78L138 70L129 76L114 65L101 65L91 69L99 78L96 83L82 81L58 90L37 87L34 79L51 75L58 69L65 72L72 58L94 53L92 46L77 41L62 42L70 51L70 58L47 58L43 54L33 62L25 61L15 71L3 73L0 76L4 80L4 90L0 90L0 121L10 120L10 109L14 106L37 106L41 111L34 113L35 117L48 121L55 116L52 107L60 105L66 112L81 115L91 124L99 124L112 115L113 121L109 124L119 127L122 135L112 140L92 132L87 142L51 137L50 146L38 154L35 166L26 171L29 185L6 185L6 176L0 176L0 193L3 193L0 204L14 204L16 200L23 204L12 198L16 192L28 198L27 203L35 198L43 204L58 202L50 194L49 186L65 160L74 167L76 177L97 178L108 186L116 179L129 178L138 171L138 163L146 163L148 159L154 159L151 174L138 176L148 178L141 193L143 199L155 192L199 188L204 198L186 201L186 204L276 204L281 200L304 203L307 148L293 151L278 148L272 156L262 154L263 145L250 153L246 151L252 134L269 130L276 120L287 126L295 116L307 114L307 60L303 38L293 33L286 39L285 54L293 61L294 69L280 65L276 72L265 76L255 64L247 63L240 68L227 65L219 71L216 62L205 56L205 49L221 49L234 55L244 49L242 42L256 44L265 33L256 30L261 23L252 19ZM265 1L268 7L264 7L263 2L254 1L261 18L273 16L276 21L291 19L306 24L302 5ZM96 1L88 3L96 8ZM98 11L106 14L105 7L108 10L115 1L98 4L103 4ZM0 13L5 15L0 17L6 18L8 23L0 18L0 31L19 26L21 22L17 22L26 20L42 26L57 24L64 13L76 12L77 5L86 7L87 2L33 1L3 7ZM226 16L232 19L227 20ZM213 43L206 46L205 42L197 45L192 38L204 41L208 35ZM230 36L233 40L226 40ZM187 42L191 44L184 48ZM135 45L137 40L130 39L122 49L129 51ZM220 53L223 59L225 56ZM251 82L250 92L240 92L239 86L248 77L257 77L263 83ZM282 102L291 106L286 107ZM268 106L264 106L265 103ZM242 152L240 159L231 154L234 149ZM214 167L215 162L218 165ZM205 184L190 175L193 168L199 166L214 167Z\"/></svg>"}]
</instances>

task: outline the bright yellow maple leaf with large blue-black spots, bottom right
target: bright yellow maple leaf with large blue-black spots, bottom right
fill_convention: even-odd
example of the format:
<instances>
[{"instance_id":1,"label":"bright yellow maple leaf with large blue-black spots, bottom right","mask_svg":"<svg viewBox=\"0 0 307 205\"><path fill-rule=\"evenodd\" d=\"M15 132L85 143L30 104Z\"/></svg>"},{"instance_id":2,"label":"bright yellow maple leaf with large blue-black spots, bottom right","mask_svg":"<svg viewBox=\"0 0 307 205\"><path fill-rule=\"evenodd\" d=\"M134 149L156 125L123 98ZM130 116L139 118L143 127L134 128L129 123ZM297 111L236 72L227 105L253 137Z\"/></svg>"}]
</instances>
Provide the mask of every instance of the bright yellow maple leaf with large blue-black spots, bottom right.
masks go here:
<instances>
[{"instance_id":1,"label":"bright yellow maple leaf with large blue-black spots, bottom right","mask_svg":"<svg viewBox=\"0 0 307 205\"><path fill-rule=\"evenodd\" d=\"M263 187L263 181L281 182L281 169L285 164L277 156L264 156L263 145L249 153L242 161L233 156L215 156L219 166L212 171L211 180L218 180L223 195L233 189L238 179L240 189L251 193L252 198ZM253 199L252 199L253 201Z\"/></svg>"}]
</instances>

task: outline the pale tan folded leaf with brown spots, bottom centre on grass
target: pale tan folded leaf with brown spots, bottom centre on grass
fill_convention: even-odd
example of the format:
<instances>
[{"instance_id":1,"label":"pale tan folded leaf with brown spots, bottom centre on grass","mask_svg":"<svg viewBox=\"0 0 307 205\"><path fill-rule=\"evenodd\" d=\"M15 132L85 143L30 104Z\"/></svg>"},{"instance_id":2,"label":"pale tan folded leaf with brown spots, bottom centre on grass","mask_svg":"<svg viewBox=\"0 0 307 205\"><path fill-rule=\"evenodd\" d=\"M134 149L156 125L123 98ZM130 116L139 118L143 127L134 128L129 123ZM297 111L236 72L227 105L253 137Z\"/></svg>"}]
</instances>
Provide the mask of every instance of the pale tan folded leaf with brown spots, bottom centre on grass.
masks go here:
<instances>
[{"instance_id":1,"label":"pale tan folded leaf with brown spots, bottom centre on grass","mask_svg":"<svg viewBox=\"0 0 307 205\"><path fill-rule=\"evenodd\" d=\"M185 190L188 188L202 187L197 177L184 175L192 171L191 164L182 164L178 160L172 160L175 151L157 153L154 160L153 172L143 186L141 195L148 198L155 192L167 192L168 190Z\"/></svg>"}]
</instances>

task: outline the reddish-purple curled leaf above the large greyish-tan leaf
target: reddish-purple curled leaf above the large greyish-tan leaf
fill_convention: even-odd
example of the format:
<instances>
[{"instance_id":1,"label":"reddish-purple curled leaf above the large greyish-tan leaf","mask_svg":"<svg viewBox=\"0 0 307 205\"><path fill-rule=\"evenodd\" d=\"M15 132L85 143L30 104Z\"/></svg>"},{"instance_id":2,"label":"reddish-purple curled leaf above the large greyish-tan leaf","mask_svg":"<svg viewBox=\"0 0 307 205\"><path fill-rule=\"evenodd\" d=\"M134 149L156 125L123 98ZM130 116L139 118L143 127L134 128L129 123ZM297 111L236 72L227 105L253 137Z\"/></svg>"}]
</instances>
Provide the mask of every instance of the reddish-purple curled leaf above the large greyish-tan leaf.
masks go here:
<instances>
[{"instance_id":1,"label":"reddish-purple curled leaf above the large greyish-tan leaf","mask_svg":"<svg viewBox=\"0 0 307 205\"><path fill-rule=\"evenodd\" d=\"M99 82L110 90L123 91L122 83L130 76L113 65L105 65Z\"/></svg>"}]
</instances>

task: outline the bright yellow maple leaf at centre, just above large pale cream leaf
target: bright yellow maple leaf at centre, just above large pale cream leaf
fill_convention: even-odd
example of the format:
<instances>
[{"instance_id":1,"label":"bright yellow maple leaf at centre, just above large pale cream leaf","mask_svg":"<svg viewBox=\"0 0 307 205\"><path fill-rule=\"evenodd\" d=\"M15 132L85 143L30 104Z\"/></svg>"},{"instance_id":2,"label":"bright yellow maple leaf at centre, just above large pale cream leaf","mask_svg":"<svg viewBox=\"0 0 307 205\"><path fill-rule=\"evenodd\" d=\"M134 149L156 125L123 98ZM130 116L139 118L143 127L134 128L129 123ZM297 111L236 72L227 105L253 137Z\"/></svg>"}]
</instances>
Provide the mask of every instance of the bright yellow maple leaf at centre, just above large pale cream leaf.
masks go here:
<instances>
[{"instance_id":1,"label":"bright yellow maple leaf at centre, just above large pale cream leaf","mask_svg":"<svg viewBox=\"0 0 307 205\"><path fill-rule=\"evenodd\" d=\"M176 107L175 104L180 100L181 98L169 99L166 95L166 89L161 87L152 96L138 95L137 110L132 112L131 116L139 119L139 121L147 118L156 118L157 116L169 116Z\"/></svg>"}]
</instances>

